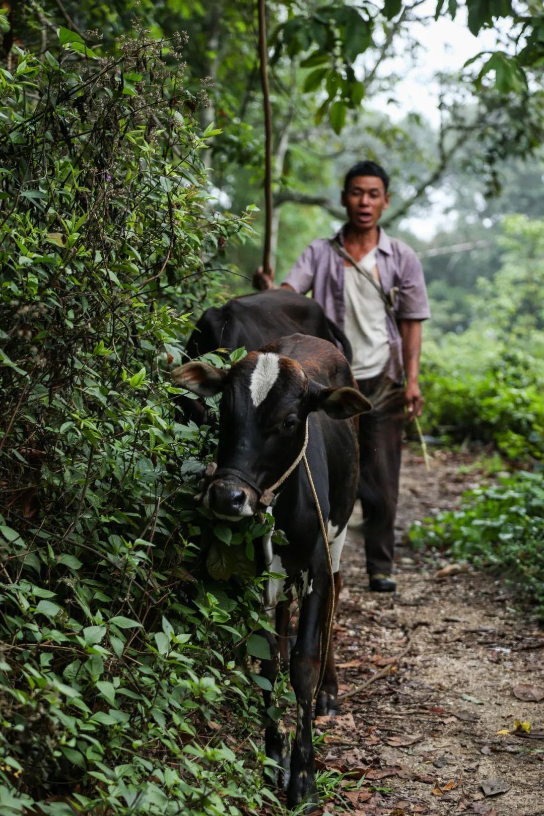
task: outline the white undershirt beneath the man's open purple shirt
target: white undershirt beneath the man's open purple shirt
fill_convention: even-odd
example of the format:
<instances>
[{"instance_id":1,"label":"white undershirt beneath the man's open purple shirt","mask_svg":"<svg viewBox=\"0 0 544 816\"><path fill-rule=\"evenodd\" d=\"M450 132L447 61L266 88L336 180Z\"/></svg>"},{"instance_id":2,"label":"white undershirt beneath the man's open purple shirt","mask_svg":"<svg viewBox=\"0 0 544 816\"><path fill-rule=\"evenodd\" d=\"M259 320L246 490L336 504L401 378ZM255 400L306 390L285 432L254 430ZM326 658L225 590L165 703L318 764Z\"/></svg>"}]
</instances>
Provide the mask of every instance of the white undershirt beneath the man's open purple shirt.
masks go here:
<instances>
[{"instance_id":1,"label":"white undershirt beneath the man's open purple shirt","mask_svg":"<svg viewBox=\"0 0 544 816\"><path fill-rule=\"evenodd\" d=\"M359 265L379 280L375 248L360 260ZM344 330L352 344L353 375L355 379L375 377L389 358L386 310L375 286L354 266L344 268L344 304Z\"/></svg>"}]
</instances>

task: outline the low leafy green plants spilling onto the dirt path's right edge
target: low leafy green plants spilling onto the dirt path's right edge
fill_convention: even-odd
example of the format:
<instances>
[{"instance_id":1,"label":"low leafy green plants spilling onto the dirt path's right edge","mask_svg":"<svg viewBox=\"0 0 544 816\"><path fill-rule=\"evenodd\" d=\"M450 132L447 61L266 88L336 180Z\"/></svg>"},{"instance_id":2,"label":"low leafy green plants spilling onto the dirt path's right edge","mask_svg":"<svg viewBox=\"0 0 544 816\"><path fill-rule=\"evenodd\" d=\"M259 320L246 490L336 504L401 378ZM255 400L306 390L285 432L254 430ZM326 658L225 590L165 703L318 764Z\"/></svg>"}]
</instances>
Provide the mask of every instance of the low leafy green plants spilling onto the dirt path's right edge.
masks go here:
<instances>
[{"instance_id":1,"label":"low leafy green plants spilling onto the dirt path's right edge","mask_svg":"<svg viewBox=\"0 0 544 816\"><path fill-rule=\"evenodd\" d=\"M453 558L510 574L544 609L544 477L519 472L496 486L469 490L462 507L410 530L414 547L447 550Z\"/></svg>"}]
</instances>

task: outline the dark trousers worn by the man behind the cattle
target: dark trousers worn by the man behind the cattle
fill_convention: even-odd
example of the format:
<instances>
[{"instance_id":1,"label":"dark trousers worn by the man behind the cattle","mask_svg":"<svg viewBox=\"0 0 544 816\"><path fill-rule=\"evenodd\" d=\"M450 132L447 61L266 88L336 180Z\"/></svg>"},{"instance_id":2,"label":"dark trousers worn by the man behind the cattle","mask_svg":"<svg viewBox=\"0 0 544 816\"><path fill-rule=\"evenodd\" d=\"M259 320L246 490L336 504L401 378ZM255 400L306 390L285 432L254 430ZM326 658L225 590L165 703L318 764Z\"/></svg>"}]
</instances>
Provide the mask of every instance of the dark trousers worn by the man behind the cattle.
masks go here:
<instances>
[{"instance_id":1,"label":"dark trousers worn by the man behind the cattle","mask_svg":"<svg viewBox=\"0 0 544 816\"><path fill-rule=\"evenodd\" d=\"M389 575L395 549L405 389L383 374L357 380L357 385L373 406L359 417L358 496L363 508L366 571Z\"/></svg>"}]
</instances>

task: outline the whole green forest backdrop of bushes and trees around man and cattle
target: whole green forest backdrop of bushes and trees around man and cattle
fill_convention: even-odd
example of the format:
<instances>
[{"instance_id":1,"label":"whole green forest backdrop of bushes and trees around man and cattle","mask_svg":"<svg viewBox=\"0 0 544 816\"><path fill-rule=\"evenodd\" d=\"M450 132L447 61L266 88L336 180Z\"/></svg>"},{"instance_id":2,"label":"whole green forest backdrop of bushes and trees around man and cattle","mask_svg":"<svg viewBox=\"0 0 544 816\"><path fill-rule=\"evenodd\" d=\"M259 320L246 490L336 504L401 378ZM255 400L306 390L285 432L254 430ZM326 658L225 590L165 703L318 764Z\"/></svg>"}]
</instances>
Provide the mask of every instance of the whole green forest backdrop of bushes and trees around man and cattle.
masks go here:
<instances>
[{"instance_id":1,"label":"whole green forest backdrop of bushes and trees around man and cattle","mask_svg":"<svg viewBox=\"0 0 544 816\"><path fill-rule=\"evenodd\" d=\"M422 27L452 17L475 59L444 71ZM0 811L280 813L255 737L270 520L195 505L215 438L168 377L261 259L256 9L29 0L0 29ZM503 473L414 542L542 605L542 4L269 2L268 44L277 279L342 222L347 168L386 166L431 295L423 430Z\"/></svg>"}]
</instances>

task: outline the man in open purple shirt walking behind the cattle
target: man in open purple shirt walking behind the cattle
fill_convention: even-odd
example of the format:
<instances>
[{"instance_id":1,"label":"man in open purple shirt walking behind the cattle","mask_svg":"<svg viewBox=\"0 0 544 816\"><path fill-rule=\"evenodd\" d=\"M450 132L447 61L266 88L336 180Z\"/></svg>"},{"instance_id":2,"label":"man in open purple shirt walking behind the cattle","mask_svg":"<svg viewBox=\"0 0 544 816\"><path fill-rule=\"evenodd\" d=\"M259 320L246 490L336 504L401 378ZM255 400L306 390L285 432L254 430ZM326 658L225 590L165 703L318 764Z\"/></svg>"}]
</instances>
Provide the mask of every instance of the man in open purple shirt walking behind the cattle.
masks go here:
<instances>
[{"instance_id":1,"label":"man in open purple shirt walking behind the cattle","mask_svg":"<svg viewBox=\"0 0 544 816\"><path fill-rule=\"evenodd\" d=\"M344 330L352 369L373 410L360 421L360 489L369 589L394 592L391 579L405 418L421 414L418 385L421 323L430 317L422 266L406 244L378 221L389 206L389 177L375 162L347 172L342 191L347 223L332 240L318 239L281 286L312 296ZM271 288L273 273L258 273Z\"/></svg>"}]
</instances>

